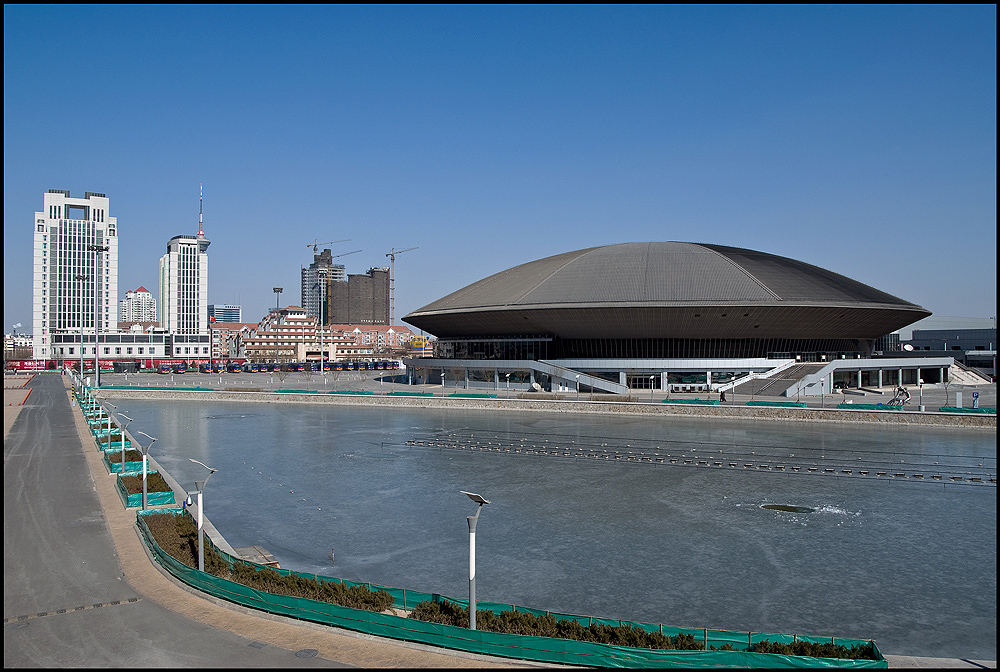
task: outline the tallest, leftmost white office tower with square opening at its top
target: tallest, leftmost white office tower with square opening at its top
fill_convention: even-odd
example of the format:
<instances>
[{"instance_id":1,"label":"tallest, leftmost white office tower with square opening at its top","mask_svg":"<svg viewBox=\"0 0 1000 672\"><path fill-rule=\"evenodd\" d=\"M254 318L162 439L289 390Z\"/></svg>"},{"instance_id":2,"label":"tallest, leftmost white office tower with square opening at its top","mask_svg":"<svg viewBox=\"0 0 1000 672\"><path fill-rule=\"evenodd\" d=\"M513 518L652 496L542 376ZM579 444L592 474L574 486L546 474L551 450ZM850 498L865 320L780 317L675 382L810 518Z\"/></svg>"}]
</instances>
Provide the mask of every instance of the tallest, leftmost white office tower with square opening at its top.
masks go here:
<instances>
[{"instance_id":1,"label":"tallest, leftmost white office tower with square opening at its top","mask_svg":"<svg viewBox=\"0 0 1000 672\"><path fill-rule=\"evenodd\" d=\"M118 327L118 220L108 210L104 194L71 198L68 190L49 189L44 209L35 213L35 359L54 359L50 336L79 338L81 323L84 354L93 356L95 322L101 331ZM79 354L74 347L73 356Z\"/></svg>"}]
</instances>

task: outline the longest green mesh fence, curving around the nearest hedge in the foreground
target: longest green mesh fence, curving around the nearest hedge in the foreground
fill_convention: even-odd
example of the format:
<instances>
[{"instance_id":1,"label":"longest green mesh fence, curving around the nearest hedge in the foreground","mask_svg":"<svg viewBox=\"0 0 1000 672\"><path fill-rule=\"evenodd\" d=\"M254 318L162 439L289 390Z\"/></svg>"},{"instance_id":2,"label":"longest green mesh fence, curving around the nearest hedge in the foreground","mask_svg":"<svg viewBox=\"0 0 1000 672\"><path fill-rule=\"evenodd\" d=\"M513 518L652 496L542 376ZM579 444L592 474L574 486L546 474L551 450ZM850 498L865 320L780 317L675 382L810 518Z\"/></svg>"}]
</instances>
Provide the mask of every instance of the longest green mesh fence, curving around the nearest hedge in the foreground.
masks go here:
<instances>
[{"instance_id":1,"label":"longest green mesh fence, curving around the nearest hedge in the foreground","mask_svg":"<svg viewBox=\"0 0 1000 672\"><path fill-rule=\"evenodd\" d=\"M546 612L512 604L495 602L477 602L478 609L490 610L499 614L501 611L516 610L535 615L550 614L556 619L573 619L581 625L591 623L611 626L632 625L650 632L662 632L674 637L678 634L692 635L704 642L703 651L676 651L662 649L638 649L611 644L597 644L551 637L533 637L528 635L508 635L484 630L469 630L452 625L429 623L416 619L404 618L385 613L376 613L362 609L350 609L335 604L264 593L241 584L227 581L206 572L199 572L188 567L177 559L165 553L153 539L142 516L154 513L173 513L181 515L181 509L160 509L158 511L142 511L138 515L139 529L143 538L156 558L167 571L201 591L236 604L254 609L261 609L273 614L299 618L315 623L322 623L356 632L363 632L379 637L418 642L430 646L456 649L471 653L491 656L501 656L516 660L531 660L542 663L576 665L584 667L760 667L760 668L887 668L888 663L882 657L878 647L871 642L878 660L850 660L840 658L812 658L806 656L786 656L768 653L750 653L745 649L765 639L771 642L791 644L798 641L826 643L833 642L846 647L867 645L868 640L834 639L831 637L812 637L802 635L782 635L773 633L750 633L728 630L706 630L697 628L676 628L649 623L636 623L611 619L599 619L589 616L576 616ZM208 537L206 542L211 544ZM213 548L214 544L212 545ZM241 563L257 566L240 558L234 558L218 548L215 550L231 565ZM394 598L394 606L402 609L412 609L424 601L448 600L468 608L468 600L443 597L432 593L423 593L400 588L390 588L375 584L356 583L334 577L315 574L304 574L287 569L274 571L284 576L294 575L305 579L317 579L324 582L333 581L345 586L364 585L371 590L386 590ZM721 648L730 645L735 651L712 651L710 647Z\"/></svg>"}]
</instances>

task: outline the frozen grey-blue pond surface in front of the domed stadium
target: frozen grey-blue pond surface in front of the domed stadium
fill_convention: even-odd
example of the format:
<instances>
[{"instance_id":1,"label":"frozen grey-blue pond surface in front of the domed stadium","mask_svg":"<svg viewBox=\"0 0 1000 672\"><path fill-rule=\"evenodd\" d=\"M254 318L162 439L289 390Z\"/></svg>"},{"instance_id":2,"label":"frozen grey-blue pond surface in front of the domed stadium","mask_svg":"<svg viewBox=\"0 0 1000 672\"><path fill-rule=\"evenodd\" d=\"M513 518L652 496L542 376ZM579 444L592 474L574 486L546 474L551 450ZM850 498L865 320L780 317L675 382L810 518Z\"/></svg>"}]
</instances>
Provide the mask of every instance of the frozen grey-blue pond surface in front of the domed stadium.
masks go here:
<instances>
[{"instance_id":1,"label":"frozen grey-blue pond surface in front of the domed stadium","mask_svg":"<svg viewBox=\"0 0 1000 672\"><path fill-rule=\"evenodd\" d=\"M480 600L996 659L996 487L947 476L995 476L995 432L117 403L185 487L204 475L188 458L219 469L206 515L282 567L467 597L467 490L492 501Z\"/></svg>"}]
</instances>

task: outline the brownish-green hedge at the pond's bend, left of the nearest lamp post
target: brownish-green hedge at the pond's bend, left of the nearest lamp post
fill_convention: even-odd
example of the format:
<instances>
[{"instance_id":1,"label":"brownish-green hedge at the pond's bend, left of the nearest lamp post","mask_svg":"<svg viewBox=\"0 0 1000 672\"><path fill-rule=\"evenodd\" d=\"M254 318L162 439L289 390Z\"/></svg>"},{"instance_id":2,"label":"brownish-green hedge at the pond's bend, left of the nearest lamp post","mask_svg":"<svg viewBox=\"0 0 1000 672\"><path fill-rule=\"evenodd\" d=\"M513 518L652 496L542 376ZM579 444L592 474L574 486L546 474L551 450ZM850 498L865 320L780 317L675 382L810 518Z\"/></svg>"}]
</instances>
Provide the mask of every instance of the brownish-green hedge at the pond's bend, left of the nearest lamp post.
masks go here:
<instances>
[{"instance_id":1,"label":"brownish-green hedge at the pond's bend, left of the nearest lamp post","mask_svg":"<svg viewBox=\"0 0 1000 672\"><path fill-rule=\"evenodd\" d=\"M141 483L139 487L142 487ZM165 553L188 567L198 566L198 527L190 516L161 513L143 516L143 520ZM211 544L205 544L205 571L261 592L318 600L352 609L385 611L393 603L392 595L385 590L370 590L360 585L345 586L339 581L322 581L297 574L283 576L270 567L253 563L230 564Z\"/></svg>"}]
</instances>

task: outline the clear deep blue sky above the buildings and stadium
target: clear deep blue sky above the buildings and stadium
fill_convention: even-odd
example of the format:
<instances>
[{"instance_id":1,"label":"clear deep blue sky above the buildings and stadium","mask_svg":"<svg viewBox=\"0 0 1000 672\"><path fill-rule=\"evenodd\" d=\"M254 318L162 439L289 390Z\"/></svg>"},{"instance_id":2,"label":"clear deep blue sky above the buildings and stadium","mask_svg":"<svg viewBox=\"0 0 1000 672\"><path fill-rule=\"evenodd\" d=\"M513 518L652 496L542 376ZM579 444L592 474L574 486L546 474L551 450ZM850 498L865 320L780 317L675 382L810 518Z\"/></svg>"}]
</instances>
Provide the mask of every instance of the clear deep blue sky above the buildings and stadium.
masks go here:
<instances>
[{"instance_id":1,"label":"clear deep blue sky above the buildings and stadium","mask_svg":"<svg viewBox=\"0 0 1000 672\"><path fill-rule=\"evenodd\" d=\"M595 245L746 247L996 315L996 7L4 6L4 331L49 188L111 199L119 297L198 228L210 303L314 240L396 321Z\"/></svg>"}]
</instances>

